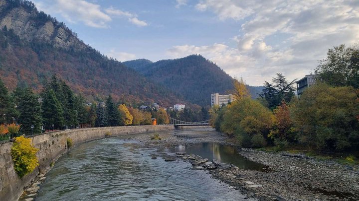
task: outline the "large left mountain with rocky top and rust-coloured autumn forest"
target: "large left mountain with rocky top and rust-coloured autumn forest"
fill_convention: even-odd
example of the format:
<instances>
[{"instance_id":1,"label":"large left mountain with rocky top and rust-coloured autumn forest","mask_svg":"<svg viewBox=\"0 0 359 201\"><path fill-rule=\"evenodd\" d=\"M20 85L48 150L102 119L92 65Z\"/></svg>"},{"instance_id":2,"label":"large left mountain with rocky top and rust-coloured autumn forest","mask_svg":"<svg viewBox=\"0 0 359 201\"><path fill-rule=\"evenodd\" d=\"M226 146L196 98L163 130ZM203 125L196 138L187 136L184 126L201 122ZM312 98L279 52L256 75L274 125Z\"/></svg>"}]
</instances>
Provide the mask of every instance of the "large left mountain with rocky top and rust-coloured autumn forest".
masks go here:
<instances>
[{"instance_id":1,"label":"large left mountain with rocky top and rust-coloured autumn forest","mask_svg":"<svg viewBox=\"0 0 359 201\"><path fill-rule=\"evenodd\" d=\"M183 102L167 87L84 44L32 2L0 0L0 78L5 85L10 90L31 86L39 92L53 74L88 100L112 94L138 104Z\"/></svg>"}]
</instances>

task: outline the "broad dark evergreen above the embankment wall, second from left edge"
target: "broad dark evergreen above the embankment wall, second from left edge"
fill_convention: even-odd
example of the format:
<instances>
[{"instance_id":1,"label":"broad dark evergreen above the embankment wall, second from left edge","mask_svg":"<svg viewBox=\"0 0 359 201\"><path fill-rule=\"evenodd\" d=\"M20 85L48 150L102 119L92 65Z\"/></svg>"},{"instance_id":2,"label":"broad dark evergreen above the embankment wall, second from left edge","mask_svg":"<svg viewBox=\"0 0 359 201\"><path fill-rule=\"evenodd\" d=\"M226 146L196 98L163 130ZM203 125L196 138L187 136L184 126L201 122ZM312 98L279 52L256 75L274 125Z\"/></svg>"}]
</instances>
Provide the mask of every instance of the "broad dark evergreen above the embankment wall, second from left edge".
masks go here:
<instances>
[{"instance_id":1,"label":"broad dark evergreen above the embankment wall, second from left edge","mask_svg":"<svg viewBox=\"0 0 359 201\"><path fill-rule=\"evenodd\" d=\"M21 125L21 133L31 134L31 125L34 126L34 134L41 133L41 107L32 88L25 89L23 94L16 99L19 101L17 109L20 113L18 123Z\"/></svg>"}]
</instances>

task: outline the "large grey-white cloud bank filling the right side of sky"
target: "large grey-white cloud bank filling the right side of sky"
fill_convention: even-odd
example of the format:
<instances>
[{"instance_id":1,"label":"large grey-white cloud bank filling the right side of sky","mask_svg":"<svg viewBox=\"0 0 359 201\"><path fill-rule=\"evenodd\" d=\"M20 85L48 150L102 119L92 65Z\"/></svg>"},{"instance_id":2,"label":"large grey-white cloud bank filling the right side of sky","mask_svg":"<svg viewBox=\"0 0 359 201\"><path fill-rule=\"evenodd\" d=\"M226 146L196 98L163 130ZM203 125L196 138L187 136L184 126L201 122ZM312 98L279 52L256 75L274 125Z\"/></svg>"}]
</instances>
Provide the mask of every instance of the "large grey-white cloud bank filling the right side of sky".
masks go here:
<instances>
[{"instance_id":1,"label":"large grey-white cloud bank filling the right side of sky","mask_svg":"<svg viewBox=\"0 0 359 201\"><path fill-rule=\"evenodd\" d=\"M231 75L244 72L249 84L261 84L276 72L289 79L301 78L318 66L329 48L359 41L355 0L199 0L195 7L223 21L242 22L232 38L238 51L227 48L212 59L221 60L217 63ZM236 63L240 70L221 58Z\"/></svg>"}]
</instances>

